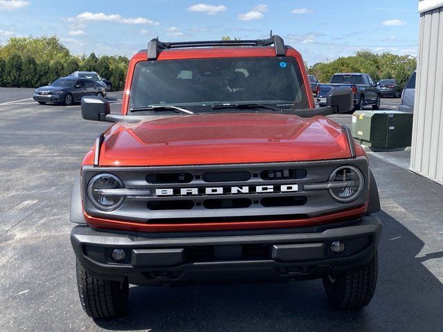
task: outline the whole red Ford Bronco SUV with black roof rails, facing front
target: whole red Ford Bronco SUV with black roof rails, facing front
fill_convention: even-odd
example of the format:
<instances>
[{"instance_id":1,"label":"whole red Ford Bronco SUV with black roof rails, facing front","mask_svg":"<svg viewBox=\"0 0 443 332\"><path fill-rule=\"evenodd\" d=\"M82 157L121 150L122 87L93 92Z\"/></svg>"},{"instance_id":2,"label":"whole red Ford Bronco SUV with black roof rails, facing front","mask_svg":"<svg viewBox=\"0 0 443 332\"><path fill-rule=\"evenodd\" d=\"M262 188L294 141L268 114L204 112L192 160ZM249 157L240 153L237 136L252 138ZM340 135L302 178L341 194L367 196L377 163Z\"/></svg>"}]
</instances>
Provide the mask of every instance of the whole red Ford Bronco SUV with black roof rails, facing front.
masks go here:
<instances>
[{"instance_id":1,"label":"whole red Ford Bronco SUV with black roof rails, facing front","mask_svg":"<svg viewBox=\"0 0 443 332\"><path fill-rule=\"evenodd\" d=\"M322 278L335 306L370 302L377 185L350 129L324 117L352 109L352 91L316 109L303 63L276 35L152 39L129 62L121 115L82 99L83 118L114 122L71 201L88 315L121 315L129 284Z\"/></svg>"}]
</instances>

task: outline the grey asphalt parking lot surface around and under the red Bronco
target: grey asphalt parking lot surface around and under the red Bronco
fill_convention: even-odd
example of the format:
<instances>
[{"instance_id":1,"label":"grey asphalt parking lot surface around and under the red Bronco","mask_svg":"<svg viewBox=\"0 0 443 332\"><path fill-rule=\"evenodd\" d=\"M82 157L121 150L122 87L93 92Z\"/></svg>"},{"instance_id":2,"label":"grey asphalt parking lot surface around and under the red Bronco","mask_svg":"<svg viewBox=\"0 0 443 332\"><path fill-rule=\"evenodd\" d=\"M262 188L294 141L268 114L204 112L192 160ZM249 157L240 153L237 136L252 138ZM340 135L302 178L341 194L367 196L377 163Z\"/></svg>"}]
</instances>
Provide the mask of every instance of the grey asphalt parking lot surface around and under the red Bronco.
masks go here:
<instances>
[{"instance_id":1,"label":"grey asphalt parking lot surface around and under the red Bronco","mask_svg":"<svg viewBox=\"0 0 443 332\"><path fill-rule=\"evenodd\" d=\"M81 160L109 123L32 94L0 88L2 331L443 331L443 187L408 171L408 151L369 153L384 230L377 291L363 310L330 308L315 280L132 287L127 315L91 320L78 299L69 203ZM109 93L113 113L121 97ZM383 98L381 107L398 104ZM351 124L349 114L331 118Z\"/></svg>"}]
</instances>

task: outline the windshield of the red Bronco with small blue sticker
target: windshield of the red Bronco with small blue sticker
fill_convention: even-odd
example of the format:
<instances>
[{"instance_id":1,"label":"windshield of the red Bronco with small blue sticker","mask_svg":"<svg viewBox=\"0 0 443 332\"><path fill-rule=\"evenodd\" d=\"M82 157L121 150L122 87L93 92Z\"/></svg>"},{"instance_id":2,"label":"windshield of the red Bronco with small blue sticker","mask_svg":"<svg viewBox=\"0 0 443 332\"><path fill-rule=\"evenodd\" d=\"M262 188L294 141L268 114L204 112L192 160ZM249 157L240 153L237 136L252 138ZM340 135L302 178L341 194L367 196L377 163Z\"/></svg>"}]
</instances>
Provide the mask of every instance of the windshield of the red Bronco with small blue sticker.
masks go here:
<instances>
[{"instance_id":1,"label":"windshield of the red Bronco with small blue sticker","mask_svg":"<svg viewBox=\"0 0 443 332\"><path fill-rule=\"evenodd\" d=\"M304 109L309 104L303 85L293 57L143 61L134 69L129 110L167 104L212 111L221 102Z\"/></svg>"}]
</instances>

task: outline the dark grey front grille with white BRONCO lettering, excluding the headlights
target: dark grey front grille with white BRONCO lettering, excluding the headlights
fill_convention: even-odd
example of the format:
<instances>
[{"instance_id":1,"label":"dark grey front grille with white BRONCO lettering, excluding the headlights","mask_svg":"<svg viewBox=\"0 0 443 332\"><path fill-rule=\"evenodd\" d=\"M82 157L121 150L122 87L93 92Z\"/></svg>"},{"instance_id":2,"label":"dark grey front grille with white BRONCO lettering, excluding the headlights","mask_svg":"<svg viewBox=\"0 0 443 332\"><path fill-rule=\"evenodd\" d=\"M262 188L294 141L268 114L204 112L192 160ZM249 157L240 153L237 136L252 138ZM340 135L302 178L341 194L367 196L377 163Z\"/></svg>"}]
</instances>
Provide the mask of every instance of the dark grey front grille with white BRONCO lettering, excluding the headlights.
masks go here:
<instances>
[{"instance_id":1,"label":"dark grey front grille with white BRONCO lettering, excluding the headlights","mask_svg":"<svg viewBox=\"0 0 443 332\"><path fill-rule=\"evenodd\" d=\"M328 190L305 190L327 183L341 165L359 167L365 176L356 201L338 203ZM105 212L87 199L89 180L98 173L118 176L128 190L117 210ZM91 167L82 169L84 208L91 216L149 224L230 223L306 219L364 205L368 199L364 157L305 163L190 165L176 167ZM151 194L146 194L150 192Z\"/></svg>"}]
</instances>

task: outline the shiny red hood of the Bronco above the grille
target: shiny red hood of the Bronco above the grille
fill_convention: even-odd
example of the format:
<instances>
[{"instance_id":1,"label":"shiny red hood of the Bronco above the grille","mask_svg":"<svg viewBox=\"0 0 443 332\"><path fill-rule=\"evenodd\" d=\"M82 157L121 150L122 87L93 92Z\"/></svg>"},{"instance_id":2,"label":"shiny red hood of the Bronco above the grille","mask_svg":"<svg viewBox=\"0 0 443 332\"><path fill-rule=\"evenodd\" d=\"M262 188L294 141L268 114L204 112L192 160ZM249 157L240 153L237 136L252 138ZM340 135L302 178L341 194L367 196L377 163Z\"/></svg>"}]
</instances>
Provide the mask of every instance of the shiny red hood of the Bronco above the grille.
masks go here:
<instances>
[{"instance_id":1,"label":"shiny red hood of the Bronco above the grille","mask_svg":"<svg viewBox=\"0 0 443 332\"><path fill-rule=\"evenodd\" d=\"M92 152L92 151L91 151ZM350 158L341 127L317 116L219 113L118 122L105 133L100 166L272 163Z\"/></svg>"}]
</instances>

